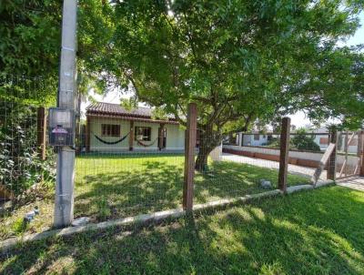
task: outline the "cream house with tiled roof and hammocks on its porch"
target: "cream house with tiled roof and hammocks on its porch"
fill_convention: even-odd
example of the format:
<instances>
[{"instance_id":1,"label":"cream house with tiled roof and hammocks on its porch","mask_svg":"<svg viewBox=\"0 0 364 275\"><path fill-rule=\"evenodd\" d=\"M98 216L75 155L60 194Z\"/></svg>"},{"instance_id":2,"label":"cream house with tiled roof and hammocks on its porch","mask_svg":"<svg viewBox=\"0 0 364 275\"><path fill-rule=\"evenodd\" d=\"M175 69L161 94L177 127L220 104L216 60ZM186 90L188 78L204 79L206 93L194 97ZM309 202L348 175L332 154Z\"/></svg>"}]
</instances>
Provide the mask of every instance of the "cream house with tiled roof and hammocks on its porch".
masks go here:
<instances>
[{"instance_id":1,"label":"cream house with tiled roof and hammocks on its porch","mask_svg":"<svg viewBox=\"0 0 364 275\"><path fill-rule=\"evenodd\" d=\"M131 111L98 102L86 107L86 151L183 150L185 130L173 117L152 118L152 108Z\"/></svg>"}]
</instances>

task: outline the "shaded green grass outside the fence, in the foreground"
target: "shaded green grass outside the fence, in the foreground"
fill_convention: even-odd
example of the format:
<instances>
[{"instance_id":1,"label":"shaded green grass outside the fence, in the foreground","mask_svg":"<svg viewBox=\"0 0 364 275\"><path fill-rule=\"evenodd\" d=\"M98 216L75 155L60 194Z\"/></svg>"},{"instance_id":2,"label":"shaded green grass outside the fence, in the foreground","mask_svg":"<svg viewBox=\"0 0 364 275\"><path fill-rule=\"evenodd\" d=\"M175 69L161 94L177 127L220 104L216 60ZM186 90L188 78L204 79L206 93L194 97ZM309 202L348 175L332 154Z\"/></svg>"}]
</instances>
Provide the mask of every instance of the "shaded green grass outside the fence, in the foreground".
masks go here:
<instances>
[{"instance_id":1,"label":"shaded green grass outside the fence, in the foreground","mask_svg":"<svg viewBox=\"0 0 364 275\"><path fill-rule=\"evenodd\" d=\"M364 193L330 187L19 246L0 273L363 274Z\"/></svg>"}]
</instances>

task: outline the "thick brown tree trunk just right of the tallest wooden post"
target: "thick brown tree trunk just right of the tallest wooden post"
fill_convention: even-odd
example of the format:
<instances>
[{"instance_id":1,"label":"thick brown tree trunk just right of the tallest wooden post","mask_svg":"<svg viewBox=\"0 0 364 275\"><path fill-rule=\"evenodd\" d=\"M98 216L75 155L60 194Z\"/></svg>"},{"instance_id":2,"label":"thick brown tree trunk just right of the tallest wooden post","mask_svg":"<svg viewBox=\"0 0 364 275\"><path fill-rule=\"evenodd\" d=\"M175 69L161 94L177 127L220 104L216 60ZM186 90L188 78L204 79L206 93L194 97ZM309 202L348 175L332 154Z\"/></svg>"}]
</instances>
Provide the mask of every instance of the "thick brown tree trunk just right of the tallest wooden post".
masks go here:
<instances>
[{"instance_id":1,"label":"thick brown tree trunk just right of the tallest wooden post","mask_svg":"<svg viewBox=\"0 0 364 275\"><path fill-rule=\"evenodd\" d=\"M208 169L207 159L211 151L219 145L221 138L212 130L203 131L199 137L199 150L196 159L195 169L197 171L206 171Z\"/></svg>"}]
</instances>

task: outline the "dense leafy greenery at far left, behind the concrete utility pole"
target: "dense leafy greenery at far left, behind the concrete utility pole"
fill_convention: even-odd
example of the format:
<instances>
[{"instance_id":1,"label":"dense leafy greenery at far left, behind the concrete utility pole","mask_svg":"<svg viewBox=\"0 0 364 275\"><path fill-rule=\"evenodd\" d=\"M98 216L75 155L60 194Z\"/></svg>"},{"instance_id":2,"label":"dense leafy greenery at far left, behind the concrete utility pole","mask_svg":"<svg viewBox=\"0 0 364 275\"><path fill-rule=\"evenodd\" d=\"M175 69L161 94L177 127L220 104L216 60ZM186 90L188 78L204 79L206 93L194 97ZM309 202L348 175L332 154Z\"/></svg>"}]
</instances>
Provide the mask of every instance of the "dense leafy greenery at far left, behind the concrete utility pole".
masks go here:
<instances>
[{"instance_id":1,"label":"dense leafy greenery at far left, behind the concrete utility pole","mask_svg":"<svg viewBox=\"0 0 364 275\"><path fill-rule=\"evenodd\" d=\"M55 106L63 1L0 3L0 186L21 194L52 174L54 159L39 158L36 107ZM80 94L96 83L91 56L103 55L110 5L79 1L77 62ZM109 32L112 35L112 32ZM95 73L96 72L96 73ZM48 163L48 161L50 163Z\"/></svg>"}]
</instances>

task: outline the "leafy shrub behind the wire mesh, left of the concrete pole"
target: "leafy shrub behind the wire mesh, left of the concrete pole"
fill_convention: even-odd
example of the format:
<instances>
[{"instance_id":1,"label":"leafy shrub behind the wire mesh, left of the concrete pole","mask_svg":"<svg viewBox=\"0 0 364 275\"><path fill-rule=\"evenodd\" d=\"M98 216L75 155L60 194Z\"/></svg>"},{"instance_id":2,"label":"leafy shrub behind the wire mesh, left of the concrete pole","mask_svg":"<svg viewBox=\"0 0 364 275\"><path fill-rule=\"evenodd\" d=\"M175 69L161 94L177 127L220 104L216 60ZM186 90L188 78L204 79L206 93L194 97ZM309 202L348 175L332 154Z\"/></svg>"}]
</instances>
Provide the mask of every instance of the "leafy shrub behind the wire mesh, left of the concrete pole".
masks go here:
<instances>
[{"instance_id":1,"label":"leafy shrub behind the wire mesh, left of the concrete pole","mask_svg":"<svg viewBox=\"0 0 364 275\"><path fill-rule=\"evenodd\" d=\"M49 154L42 160L36 147L36 108L12 103L5 114L0 118L0 184L16 196L42 178L54 182L55 159Z\"/></svg>"}]
</instances>

